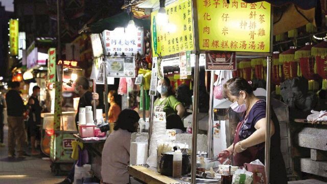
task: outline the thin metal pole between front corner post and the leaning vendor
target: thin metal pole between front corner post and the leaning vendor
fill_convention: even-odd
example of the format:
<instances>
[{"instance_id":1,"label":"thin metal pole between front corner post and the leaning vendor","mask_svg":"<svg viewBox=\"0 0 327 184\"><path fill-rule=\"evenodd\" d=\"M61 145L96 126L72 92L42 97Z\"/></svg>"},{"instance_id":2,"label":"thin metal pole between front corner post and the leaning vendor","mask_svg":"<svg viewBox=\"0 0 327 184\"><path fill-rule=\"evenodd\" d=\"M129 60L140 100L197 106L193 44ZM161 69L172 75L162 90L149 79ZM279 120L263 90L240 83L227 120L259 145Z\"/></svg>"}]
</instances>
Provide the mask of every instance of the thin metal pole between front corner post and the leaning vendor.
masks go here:
<instances>
[{"instance_id":1,"label":"thin metal pole between front corner post and the leaning vendor","mask_svg":"<svg viewBox=\"0 0 327 184\"><path fill-rule=\"evenodd\" d=\"M214 125L214 83L215 83L215 71L211 71L210 79L210 104L209 104L209 122L208 122L208 142L207 152L208 158L213 157L213 125Z\"/></svg>"}]
</instances>

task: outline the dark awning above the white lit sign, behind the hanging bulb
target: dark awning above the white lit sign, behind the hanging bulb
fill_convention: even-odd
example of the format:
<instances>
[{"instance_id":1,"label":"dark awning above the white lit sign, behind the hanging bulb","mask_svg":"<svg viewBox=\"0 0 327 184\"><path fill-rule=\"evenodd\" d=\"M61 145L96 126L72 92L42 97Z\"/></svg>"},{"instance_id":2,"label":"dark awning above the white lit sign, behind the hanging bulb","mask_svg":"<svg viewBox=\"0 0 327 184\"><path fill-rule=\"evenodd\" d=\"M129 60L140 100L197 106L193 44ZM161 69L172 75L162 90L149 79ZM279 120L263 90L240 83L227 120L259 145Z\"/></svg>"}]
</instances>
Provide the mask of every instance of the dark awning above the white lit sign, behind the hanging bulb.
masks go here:
<instances>
[{"instance_id":1,"label":"dark awning above the white lit sign, behind the hanging bulb","mask_svg":"<svg viewBox=\"0 0 327 184\"><path fill-rule=\"evenodd\" d=\"M126 12L116 14L112 17L101 19L95 23L88 25L88 28L92 33L101 33L104 30L114 30L117 27L126 27L128 25L130 17ZM150 29L150 19L138 19L134 18L136 26Z\"/></svg>"}]
</instances>

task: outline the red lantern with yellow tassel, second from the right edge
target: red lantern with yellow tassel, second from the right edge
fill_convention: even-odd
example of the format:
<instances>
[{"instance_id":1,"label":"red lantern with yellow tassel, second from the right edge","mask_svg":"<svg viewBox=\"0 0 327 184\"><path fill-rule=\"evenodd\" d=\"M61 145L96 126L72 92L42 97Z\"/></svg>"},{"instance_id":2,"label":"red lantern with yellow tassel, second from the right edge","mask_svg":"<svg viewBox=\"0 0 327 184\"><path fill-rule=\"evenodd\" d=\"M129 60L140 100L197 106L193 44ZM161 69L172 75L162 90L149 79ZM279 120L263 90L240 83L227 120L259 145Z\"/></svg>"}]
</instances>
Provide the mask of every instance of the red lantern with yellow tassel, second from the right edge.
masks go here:
<instances>
[{"instance_id":1,"label":"red lantern with yellow tassel, second from the right edge","mask_svg":"<svg viewBox=\"0 0 327 184\"><path fill-rule=\"evenodd\" d=\"M308 79L309 90L318 90L319 84L317 79L319 76L314 72L314 59L311 57L311 49L313 45L306 43L306 46L295 51L294 59L299 62L300 73Z\"/></svg>"}]
</instances>

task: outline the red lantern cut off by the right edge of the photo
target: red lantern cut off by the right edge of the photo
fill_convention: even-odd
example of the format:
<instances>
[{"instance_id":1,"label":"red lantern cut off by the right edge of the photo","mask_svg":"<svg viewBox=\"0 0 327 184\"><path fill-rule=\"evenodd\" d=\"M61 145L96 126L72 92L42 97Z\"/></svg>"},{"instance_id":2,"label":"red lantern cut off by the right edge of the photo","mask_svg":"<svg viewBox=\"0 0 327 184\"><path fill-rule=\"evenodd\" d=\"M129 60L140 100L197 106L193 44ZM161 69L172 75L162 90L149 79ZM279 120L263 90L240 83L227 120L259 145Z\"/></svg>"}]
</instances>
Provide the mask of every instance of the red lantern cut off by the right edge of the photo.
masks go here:
<instances>
[{"instance_id":1,"label":"red lantern cut off by the right edge of the photo","mask_svg":"<svg viewBox=\"0 0 327 184\"><path fill-rule=\"evenodd\" d=\"M314 72L322 80L322 89L327 89L327 41L316 44L311 49L311 56L315 59Z\"/></svg>"}]
</instances>

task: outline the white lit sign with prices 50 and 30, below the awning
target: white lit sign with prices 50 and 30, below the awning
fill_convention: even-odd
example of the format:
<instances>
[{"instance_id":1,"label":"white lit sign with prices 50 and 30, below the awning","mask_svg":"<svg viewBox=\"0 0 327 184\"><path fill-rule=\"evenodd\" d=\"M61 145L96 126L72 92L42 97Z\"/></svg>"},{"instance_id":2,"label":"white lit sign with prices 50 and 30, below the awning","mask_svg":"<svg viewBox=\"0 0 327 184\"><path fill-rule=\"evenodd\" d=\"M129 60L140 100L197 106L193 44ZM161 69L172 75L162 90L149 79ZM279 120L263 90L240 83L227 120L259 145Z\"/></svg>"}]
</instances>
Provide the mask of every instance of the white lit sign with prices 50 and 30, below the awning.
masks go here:
<instances>
[{"instance_id":1,"label":"white lit sign with prices 50 and 30, below the awning","mask_svg":"<svg viewBox=\"0 0 327 184\"><path fill-rule=\"evenodd\" d=\"M106 54L143 54L143 28L137 28L137 31L125 33L124 28L116 28L113 31L104 30L102 32Z\"/></svg>"}]
</instances>

